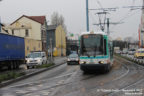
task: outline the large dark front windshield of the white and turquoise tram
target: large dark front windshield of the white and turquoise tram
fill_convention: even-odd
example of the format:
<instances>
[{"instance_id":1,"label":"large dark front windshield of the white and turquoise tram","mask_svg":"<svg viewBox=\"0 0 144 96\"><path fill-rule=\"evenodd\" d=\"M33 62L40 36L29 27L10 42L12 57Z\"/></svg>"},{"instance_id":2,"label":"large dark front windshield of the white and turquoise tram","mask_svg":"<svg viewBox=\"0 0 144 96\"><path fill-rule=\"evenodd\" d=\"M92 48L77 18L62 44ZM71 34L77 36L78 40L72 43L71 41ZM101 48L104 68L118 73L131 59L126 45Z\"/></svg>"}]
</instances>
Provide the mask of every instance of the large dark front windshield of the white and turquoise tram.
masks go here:
<instances>
[{"instance_id":1,"label":"large dark front windshield of the white and turquoise tram","mask_svg":"<svg viewBox=\"0 0 144 96\"><path fill-rule=\"evenodd\" d=\"M106 55L106 40L102 35L83 35L81 39L81 55L97 56Z\"/></svg>"}]
</instances>

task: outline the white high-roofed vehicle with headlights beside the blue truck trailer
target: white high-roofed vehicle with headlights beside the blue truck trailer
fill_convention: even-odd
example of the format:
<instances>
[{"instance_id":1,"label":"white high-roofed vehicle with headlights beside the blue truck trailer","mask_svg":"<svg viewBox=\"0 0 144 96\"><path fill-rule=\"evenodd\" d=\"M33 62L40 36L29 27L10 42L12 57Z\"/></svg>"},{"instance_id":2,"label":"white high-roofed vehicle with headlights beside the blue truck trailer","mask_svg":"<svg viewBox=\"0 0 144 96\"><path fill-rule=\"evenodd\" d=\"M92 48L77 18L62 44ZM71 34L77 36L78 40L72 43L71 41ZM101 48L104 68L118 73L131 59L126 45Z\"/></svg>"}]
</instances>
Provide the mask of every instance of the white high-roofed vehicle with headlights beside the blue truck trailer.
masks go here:
<instances>
[{"instance_id":1,"label":"white high-roofed vehicle with headlights beside the blue truck trailer","mask_svg":"<svg viewBox=\"0 0 144 96\"><path fill-rule=\"evenodd\" d=\"M46 53L42 51L31 52L26 57L26 64L28 68L46 63L47 63Z\"/></svg>"}]
</instances>

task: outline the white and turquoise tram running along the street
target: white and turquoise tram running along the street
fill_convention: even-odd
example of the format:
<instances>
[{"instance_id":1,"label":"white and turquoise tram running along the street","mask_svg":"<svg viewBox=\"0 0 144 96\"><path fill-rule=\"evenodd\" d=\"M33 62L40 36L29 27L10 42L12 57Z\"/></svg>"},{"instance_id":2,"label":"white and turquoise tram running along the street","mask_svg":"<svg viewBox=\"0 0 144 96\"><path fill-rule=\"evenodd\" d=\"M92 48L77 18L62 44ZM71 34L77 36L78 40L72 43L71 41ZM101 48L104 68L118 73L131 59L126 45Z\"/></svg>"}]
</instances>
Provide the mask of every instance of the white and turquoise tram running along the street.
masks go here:
<instances>
[{"instance_id":1,"label":"white and turquoise tram running along the street","mask_svg":"<svg viewBox=\"0 0 144 96\"><path fill-rule=\"evenodd\" d=\"M82 71L110 71L113 64L113 44L105 32L83 32L79 48L79 64Z\"/></svg>"}]
</instances>

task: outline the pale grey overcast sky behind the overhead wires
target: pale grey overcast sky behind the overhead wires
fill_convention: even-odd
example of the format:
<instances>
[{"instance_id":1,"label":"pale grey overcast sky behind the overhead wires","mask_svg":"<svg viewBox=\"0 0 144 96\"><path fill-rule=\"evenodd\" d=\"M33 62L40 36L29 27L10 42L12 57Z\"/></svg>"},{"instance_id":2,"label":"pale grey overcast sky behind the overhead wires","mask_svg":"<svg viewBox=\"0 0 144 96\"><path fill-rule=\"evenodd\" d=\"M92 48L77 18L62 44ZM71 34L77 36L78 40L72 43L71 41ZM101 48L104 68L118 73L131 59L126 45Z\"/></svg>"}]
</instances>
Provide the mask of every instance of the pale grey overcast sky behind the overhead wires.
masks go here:
<instances>
[{"instance_id":1,"label":"pale grey overcast sky behind the overhead wires","mask_svg":"<svg viewBox=\"0 0 144 96\"><path fill-rule=\"evenodd\" d=\"M68 32L78 34L86 31L86 0L3 0L0 2L0 17L2 23L12 23L22 15L40 16L45 15L47 21L53 12L58 12L65 18L65 24ZM122 24L111 25L111 37L129 37L138 38L138 27L141 20L141 10L130 11L124 6L141 6L142 0L89 0L90 8L113 8L118 7L115 12L107 15L110 22L118 22L121 19ZM98 23L98 11L89 11L90 30L98 30L99 27L93 25Z\"/></svg>"}]
</instances>

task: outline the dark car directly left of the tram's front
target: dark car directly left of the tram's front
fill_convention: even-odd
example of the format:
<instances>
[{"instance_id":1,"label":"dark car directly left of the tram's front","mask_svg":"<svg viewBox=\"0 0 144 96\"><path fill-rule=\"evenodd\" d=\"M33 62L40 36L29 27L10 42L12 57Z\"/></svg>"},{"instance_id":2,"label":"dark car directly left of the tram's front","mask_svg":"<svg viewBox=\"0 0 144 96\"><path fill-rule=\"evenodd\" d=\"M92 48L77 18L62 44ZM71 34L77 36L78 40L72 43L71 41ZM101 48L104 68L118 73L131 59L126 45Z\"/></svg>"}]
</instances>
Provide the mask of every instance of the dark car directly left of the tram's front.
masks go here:
<instances>
[{"instance_id":1,"label":"dark car directly left of the tram's front","mask_svg":"<svg viewBox=\"0 0 144 96\"><path fill-rule=\"evenodd\" d=\"M78 54L70 54L67 58L67 64L79 64Z\"/></svg>"}]
</instances>

